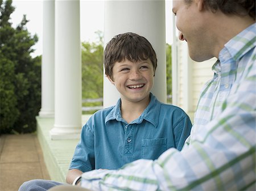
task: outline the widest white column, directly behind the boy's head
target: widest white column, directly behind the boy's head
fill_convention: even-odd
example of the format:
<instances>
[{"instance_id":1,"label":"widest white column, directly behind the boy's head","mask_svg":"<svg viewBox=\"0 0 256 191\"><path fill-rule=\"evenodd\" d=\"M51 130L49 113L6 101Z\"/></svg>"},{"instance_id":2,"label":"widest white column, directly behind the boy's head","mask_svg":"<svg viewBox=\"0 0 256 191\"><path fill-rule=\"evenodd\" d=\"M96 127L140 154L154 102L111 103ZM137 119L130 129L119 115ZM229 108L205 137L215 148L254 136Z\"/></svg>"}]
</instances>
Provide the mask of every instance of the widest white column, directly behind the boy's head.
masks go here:
<instances>
[{"instance_id":1,"label":"widest white column, directly behind the boy's head","mask_svg":"<svg viewBox=\"0 0 256 191\"><path fill-rule=\"evenodd\" d=\"M164 1L105 1L104 44L115 35L134 32L146 37L158 58L152 93L166 103L166 19ZM105 77L105 75L104 75ZM119 92L104 78L104 108L115 105Z\"/></svg>"}]
</instances>

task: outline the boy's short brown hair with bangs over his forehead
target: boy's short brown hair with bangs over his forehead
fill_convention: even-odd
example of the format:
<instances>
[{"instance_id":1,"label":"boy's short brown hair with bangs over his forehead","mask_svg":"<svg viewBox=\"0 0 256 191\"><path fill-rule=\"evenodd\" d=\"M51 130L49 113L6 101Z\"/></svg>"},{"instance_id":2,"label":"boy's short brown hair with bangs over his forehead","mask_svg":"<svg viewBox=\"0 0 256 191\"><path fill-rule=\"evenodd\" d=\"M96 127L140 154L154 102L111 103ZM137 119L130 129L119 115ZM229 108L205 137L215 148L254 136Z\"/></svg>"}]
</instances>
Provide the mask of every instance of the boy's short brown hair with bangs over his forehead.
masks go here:
<instances>
[{"instance_id":1,"label":"boy's short brown hair with bangs over his forehead","mask_svg":"<svg viewBox=\"0 0 256 191\"><path fill-rule=\"evenodd\" d=\"M132 32L114 36L106 45L103 62L105 74L113 78L113 66L115 62L122 62L127 59L131 62L150 59L153 65L154 74L157 66L155 50L146 38Z\"/></svg>"}]
</instances>

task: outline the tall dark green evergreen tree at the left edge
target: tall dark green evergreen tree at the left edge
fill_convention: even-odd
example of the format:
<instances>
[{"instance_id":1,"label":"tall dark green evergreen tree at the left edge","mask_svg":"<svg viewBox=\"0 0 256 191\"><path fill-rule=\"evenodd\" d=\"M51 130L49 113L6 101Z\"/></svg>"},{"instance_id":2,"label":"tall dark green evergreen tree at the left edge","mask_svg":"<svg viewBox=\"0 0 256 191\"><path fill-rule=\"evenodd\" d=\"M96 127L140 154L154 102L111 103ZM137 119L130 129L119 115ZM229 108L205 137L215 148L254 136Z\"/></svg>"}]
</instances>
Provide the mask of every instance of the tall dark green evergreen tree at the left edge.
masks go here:
<instances>
[{"instance_id":1,"label":"tall dark green evergreen tree at the left edge","mask_svg":"<svg viewBox=\"0 0 256 191\"><path fill-rule=\"evenodd\" d=\"M16 28L11 26L11 4L0 0L1 133L30 133L40 109L41 57L30 56L38 37L27 31L26 15Z\"/></svg>"}]
</instances>

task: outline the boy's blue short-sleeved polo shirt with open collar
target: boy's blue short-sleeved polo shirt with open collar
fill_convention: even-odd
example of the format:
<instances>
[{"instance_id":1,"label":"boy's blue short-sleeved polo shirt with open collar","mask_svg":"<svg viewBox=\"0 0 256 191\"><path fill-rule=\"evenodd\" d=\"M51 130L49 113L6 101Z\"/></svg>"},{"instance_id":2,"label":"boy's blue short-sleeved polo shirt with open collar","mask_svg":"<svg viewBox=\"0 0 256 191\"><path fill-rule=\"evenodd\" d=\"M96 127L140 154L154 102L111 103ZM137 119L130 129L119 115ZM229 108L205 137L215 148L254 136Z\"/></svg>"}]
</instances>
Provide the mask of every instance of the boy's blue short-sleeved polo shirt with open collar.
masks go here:
<instances>
[{"instance_id":1,"label":"boy's blue short-sleeved polo shirt with open collar","mask_svg":"<svg viewBox=\"0 0 256 191\"><path fill-rule=\"evenodd\" d=\"M82 127L69 169L117 169L137 159L157 159L168 148L178 150L191 131L187 114L150 94L150 104L128 124L121 116L121 99L97 111Z\"/></svg>"}]
</instances>

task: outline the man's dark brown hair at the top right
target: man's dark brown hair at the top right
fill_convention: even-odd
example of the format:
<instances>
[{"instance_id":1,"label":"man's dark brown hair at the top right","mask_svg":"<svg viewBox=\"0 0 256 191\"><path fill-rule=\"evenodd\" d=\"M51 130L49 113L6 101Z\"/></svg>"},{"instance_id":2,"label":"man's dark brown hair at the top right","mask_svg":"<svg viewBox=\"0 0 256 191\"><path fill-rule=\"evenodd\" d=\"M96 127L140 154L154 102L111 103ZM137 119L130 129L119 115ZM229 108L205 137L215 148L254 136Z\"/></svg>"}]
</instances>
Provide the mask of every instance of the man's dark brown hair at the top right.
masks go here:
<instances>
[{"instance_id":1,"label":"man's dark brown hair at the top right","mask_svg":"<svg viewBox=\"0 0 256 191\"><path fill-rule=\"evenodd\" d=\"M188 4L192 0L185 0ZM220 10L224 14L249 15L255 20L255 0L204 0L207 9L216 12Z\"/></svg>"}]
</instances>

